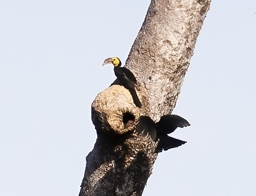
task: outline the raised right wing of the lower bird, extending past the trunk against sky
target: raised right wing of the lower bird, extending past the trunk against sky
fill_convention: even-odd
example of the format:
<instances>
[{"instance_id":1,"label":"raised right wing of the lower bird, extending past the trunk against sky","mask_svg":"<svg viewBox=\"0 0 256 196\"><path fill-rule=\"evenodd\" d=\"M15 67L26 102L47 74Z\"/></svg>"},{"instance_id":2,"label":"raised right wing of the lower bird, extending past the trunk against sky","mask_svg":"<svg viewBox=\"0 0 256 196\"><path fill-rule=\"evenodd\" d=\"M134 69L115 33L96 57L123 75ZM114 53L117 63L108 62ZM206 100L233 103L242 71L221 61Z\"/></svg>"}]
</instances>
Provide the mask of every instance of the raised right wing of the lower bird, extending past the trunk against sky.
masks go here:
<instances>
[{"instance_id":1,"label":"raised right wing of the lower bird, extending past the trunk against sky","mask_svg":"<svg viewBox=\"0 0 256 196\"><path fill-rule=\"evenodd\" d=\"M163 115L157 123L158 135L171 134L177 127L189 126L189 122L174 114Z\"/></svg>"}]
</instances>

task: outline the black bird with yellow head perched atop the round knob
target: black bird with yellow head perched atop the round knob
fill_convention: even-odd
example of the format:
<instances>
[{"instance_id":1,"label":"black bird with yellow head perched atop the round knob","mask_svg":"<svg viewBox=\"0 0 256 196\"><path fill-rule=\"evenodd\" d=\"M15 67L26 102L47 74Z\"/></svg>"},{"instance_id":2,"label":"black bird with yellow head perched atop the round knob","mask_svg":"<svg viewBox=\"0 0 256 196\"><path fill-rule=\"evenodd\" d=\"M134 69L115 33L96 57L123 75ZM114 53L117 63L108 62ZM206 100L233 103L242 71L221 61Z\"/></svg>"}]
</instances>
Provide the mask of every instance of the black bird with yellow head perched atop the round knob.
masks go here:
<instances>
[{"instance_id":1,"label":"black bird with yellow head perched atop the round knob","mask_svg":"<svg viewBox=\"0 0 256 196\"><path fill-rule=\"evenodd\" d=\"M121 60L118 57L107 58L104 60L104 64L112 63L114 65L114 72L117 79L122 83L127 90L130 91L134 104L137 107L141 107L142 104L138 98L135 90L135 85L137 84L136 78L130 70L121 67Z\"/></svg>"}]
</instances>

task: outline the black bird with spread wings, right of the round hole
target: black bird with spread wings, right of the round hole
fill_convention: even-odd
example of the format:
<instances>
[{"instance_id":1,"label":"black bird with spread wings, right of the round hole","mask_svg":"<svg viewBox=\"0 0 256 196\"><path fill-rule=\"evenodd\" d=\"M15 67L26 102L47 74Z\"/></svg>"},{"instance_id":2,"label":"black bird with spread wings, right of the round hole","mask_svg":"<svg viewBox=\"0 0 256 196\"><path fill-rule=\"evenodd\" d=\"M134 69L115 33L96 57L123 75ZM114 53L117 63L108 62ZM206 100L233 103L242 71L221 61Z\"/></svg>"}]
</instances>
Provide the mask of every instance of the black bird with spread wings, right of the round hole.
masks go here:
<instances>
[{"instance_id":1,"label":"black bird with spread wings, right of the round hole","mask_svg":"<svg viewBox=\"0 0 256 196\"><path fill-rule=\"evenodd\" d=\"M149 116L140 116L136 126L136 133L149 135L153 140L159 140L156 152L169 150L185 144L185 141L168 136L174 132L177 127L189 126L189 122L174 114L163 115L159 122L154 122Z\"/></svg>"}]
</instances>

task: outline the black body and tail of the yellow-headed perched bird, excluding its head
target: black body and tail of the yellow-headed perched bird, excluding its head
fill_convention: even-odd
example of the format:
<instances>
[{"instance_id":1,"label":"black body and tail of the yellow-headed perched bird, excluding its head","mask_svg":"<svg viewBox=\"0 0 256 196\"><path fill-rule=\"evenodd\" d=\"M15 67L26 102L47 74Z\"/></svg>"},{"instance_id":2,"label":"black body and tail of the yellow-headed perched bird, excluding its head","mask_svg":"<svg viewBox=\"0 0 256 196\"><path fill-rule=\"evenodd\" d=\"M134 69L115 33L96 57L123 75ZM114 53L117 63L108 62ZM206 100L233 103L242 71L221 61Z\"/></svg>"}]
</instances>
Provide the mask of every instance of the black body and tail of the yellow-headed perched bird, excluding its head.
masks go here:
<instances>
[{"instance_id":1,"label":"black body and tail of the yellow-headed perched bird, excluding its head","mask_svg":"<svg viewBox=\"0 0 256 196\"><path fill-rule=\"evenodd\" d=\"M121 66L121 64L120 64ZM122 83L122 85L128 89L131 93L134 104L137 107L141 107L142 104L138 98L138 95L135 90L135 85L137 84L136 78L130 70L124 67L114 67L114 72L117 79Z\"/></svg>"}]
</instances>

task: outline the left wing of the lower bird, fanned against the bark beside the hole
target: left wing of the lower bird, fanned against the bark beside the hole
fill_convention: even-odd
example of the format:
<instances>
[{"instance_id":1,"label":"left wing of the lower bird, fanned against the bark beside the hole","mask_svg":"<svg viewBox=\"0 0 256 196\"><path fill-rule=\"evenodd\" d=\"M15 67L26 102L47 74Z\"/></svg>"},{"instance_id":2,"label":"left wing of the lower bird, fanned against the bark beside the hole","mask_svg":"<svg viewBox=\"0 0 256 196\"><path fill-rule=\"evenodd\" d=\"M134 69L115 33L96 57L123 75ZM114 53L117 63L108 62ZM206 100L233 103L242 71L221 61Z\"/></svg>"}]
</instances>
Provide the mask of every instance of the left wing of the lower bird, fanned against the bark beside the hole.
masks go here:
<instances>
[{"instance_id":1,"label":"left wing of the lower bird, fanned against the bark beside the hole","mask_svg":"<svg viewBox=\"0 0 256 196\"><path fill-rule=\"evenodd\" d=\"M143 136L149 135L153 140L156 140L156 123L149 116L140 116L135 132Z\"/></svg>"}]
</instances>

